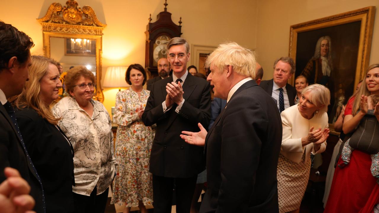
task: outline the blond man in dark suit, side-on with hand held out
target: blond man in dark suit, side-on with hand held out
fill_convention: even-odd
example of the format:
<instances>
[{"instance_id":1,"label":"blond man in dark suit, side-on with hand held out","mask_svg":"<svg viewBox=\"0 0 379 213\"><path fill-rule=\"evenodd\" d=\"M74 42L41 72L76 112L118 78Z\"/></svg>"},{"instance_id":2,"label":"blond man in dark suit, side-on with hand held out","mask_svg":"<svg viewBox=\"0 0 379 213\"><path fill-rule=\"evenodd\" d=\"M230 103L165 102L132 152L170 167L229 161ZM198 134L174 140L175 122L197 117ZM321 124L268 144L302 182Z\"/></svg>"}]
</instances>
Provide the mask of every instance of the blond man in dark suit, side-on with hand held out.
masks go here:
<instances>
[{"instance_id":1,"label":"blond man in dark suit, side-on with hand held out","mask_svg":"<svg viewBox=\"0 0 379 213\"><path fill-rule=\"evenodd\" d=\"M278 212L276 169L282 122L276 104L251 76L255 56L236 43L221 44L205 62L215 97L227 100L209 132L183 131L204 145L208 190L200 212Z\"/></svg>"}]
</instances>

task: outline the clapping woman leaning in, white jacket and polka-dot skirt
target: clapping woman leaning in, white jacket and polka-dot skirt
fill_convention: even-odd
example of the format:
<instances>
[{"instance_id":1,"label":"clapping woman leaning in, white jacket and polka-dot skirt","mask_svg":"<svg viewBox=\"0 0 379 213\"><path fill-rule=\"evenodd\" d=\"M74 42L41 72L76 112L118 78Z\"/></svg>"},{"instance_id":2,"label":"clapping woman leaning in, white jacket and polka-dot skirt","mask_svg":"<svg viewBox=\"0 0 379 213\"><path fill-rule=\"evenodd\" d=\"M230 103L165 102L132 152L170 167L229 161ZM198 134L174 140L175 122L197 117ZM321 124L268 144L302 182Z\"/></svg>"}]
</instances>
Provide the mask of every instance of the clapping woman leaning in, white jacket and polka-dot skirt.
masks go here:
<instances>
[{"instance_id":1,"label":"clapping woman leaning in, white jacket and polka-dot skirt","mask_svg":"<svg viewBox=\"0 0 379 213\"><path fill-rule=\"evenodd\" d=\"M277 180L279 212L299 212L311 166L310 153L325 151L330 92L321 84L302 90L300 102L284 110Z\"/></svg>"}]
</instances>

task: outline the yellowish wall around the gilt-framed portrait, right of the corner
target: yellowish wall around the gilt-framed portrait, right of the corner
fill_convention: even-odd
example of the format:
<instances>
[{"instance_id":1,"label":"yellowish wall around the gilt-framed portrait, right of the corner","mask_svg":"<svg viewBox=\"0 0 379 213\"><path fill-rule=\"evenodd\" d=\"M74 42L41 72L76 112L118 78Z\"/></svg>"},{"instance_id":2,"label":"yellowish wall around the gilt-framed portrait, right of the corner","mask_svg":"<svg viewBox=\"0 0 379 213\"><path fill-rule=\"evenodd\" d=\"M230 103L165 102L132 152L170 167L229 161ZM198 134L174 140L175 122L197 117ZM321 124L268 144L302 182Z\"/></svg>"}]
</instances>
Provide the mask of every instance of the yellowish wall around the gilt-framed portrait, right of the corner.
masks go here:
<instances>
[{"instance_id":1,"label":"yellowish wall around the gilt-framed portrait, right of the corner","mask_svg":"<svg viewBox=\"0 0 379 213\"><path fill-rule=\"evenodd\" d=\"M288 56L290 26L335 14L376 6L378 0L258 0L257 54L265 73L273 78L277 58ZM379 11L374 21L370 64L379 62Z\"/></svg>"}]
</instances>

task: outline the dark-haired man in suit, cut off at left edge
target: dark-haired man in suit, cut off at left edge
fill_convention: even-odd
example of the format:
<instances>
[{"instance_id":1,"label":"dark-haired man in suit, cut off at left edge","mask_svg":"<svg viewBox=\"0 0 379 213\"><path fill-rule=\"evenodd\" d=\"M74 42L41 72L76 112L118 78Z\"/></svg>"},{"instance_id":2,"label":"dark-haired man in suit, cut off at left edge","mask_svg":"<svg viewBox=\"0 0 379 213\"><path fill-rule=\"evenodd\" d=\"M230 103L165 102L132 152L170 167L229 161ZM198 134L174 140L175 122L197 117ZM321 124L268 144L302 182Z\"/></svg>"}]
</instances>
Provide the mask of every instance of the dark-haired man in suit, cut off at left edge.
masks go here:
<instances>
[{"instance_id":1,"label":"dark-haired man in suit, cut off at left edge","mask_svg":"<svg viewBox=\"0 0 379 213\"><path fill-rule=\"evenodd\" d=\"M0 21L0 182L18 175L4 174L5 167L17 169L30 185L30 195L36 202L34 210L40 213L45 212L42 185L23 145L13 107L7 101L20 94L28 80L31 47L29 36Z\"/></svg>"}]
</instances>

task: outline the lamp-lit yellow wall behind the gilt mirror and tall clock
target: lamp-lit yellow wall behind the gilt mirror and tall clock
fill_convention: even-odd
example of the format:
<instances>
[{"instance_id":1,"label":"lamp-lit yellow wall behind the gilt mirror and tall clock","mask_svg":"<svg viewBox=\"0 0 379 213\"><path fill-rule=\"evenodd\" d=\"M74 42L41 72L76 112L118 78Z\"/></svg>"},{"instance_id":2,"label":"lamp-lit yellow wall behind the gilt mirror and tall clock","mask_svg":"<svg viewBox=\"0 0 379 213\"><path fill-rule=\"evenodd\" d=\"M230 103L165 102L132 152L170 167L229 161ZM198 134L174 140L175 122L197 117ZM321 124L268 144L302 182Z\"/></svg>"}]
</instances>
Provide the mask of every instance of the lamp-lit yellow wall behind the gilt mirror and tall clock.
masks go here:
<instances>
[{"instance_id":1,"label":"lamp-lit yellow wall behind the gilt mirror and tall clock","mask_svg":"<svg viewBox=\"0 0 379 213\"><path fill-rule=\"evenodd\" d=\"M0 20L27 33L34 41L32 54L43 54L42 27L37 22L53 2L66 0L3 1ZM145 64L145 31L151 13L152 22L163 11L164 0L78 0L79 6L91 6L98 19L108 26L103 33L103 76L109 66ZM168 0L168 12L174 23L182 17L182 37L189 45L217 46L235 41L256 48L257 0ZM188 64L190 65L190 64ZM125 88L124 88L125 89ZM110 112L118 88L104 88L104 105Z\"/></svg>"}]
</instances>

